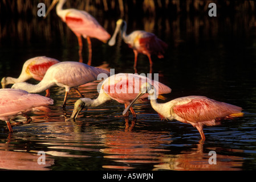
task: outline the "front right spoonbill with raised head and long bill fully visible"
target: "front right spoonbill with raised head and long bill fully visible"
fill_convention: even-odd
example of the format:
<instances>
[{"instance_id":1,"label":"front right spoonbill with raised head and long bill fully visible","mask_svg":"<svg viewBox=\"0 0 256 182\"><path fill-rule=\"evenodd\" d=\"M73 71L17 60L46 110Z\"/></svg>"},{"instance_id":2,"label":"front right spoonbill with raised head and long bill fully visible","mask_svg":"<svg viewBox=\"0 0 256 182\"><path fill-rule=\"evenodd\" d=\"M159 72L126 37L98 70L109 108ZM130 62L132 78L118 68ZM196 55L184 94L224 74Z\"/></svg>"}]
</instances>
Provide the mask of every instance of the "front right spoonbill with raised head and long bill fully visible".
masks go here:
<instances>
[{"instance_id":1,"label":"front right spoonbill with raised head and long bill fully visible","mask_svg":"<svg viewBox=\"0 0 256 182\"><path fill-rule=\"evenodd\" d=\"M151 97L151 106L159 113L160 118L176 119L183 123L189 123L197 128L202 139L205 139L204 125L214 126L220 124L221 119L243 116L241 107L218 102L204 96L180 97L164 104L159 104L155 97L156 89L148 83L141 86L140 93L126 107L123 114L127 113L129 107L145 93L148 93Z\"/></svg>"}]
</instances>

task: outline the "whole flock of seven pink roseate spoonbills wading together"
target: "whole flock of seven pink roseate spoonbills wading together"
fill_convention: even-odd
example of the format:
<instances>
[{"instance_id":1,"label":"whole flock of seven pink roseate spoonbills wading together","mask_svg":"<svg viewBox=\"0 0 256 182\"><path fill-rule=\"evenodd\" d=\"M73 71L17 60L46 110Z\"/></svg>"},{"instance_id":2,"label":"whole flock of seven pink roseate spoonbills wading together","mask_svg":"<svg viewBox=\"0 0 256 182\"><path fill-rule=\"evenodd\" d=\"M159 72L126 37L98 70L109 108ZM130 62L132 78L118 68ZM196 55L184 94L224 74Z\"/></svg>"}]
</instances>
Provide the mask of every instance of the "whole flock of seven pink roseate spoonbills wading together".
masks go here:
<instances>
[{"instance_id":1,"label":"whole flock of seven pink roseate spoonbills wading together","mask_svg":"<svg viewBox=\"0 0 256 182\"><path fill-rule=\"evenodd\" d=\"M128 110L130 110L133 119L135 119L136 113L132 109L132 105L140 98L144 98L144 100L148 98L151 106L159 113L162 119L174 119L189 123L197 128L201 139L205 139L204 126L218 125L223 119L242 117L241 107L218 102L204 96L181 97L164 104L159 104L157 98L163 98L161 94L170 93L171 89L169 86L151 80L148 77L132 73L119 73L109 76L110 73L108 71L92 67L90 38L96 38L107 43L111 36L86 11L76 9L63 10L65 2L66 0L54 0L46 14L58 3L56 13L78 37L79 61L60 62L46 56L34 57L24 63L21 75L18 78L2 78L0 120L7 123L10 133L13 132L12 126L15 121L12 119L16 115L25 116L27 119L25 123L29 123L31 121L31 118L27 115L29 112L35 110L50 112L48 105L54 104L54 101L50 98L49 90L52 86L65 88L66 94L62 107L66 106L68 93L71 88L74 88L79 97L81 97L75 102L71 118L77 118L80 111L84 108L87 109L90 106L99 106L109 100L116 100L125 106L123 115L128 117ZM167 44L157 38L155 34L145 31L133 31L127 35L126 30L127 23L122 19L117 20L116 30L108 44L113 46L116 35L120 32L124 42L133 49L135 54L134 67L136 67L138 53L148 56L151 67L153 64L151 55L156 55L159 58L164 57ZM88 42L89 57L87 64L82 63L82 36ZM97 80L97 76L101 73L109 77L103 81L99 96L96 99L84 98L83 93L79 91L79 86ZM38 80L39 83L36 85L27 83L26 81L30 78ZM13 86L6 88L9 84L13 84ZM36 94L42 92L46 92L46 96Z\"/></svg>"}]
</instances>

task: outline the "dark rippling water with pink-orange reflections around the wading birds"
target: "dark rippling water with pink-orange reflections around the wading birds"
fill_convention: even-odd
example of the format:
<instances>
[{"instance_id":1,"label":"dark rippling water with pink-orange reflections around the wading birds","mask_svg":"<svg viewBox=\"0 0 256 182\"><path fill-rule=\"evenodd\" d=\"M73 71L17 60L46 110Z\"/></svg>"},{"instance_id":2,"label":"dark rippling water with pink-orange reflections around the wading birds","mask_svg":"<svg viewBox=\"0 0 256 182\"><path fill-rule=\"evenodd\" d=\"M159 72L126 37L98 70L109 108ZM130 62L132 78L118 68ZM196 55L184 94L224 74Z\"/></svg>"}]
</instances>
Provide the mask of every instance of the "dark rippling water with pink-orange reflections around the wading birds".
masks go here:
<instances>
[{"instance_id":1,"label":"dark rippling water with pink-orange reflections around the wading birds","mask_svg":"<svg viewBox=\"0 0 256 182\"><path fill-rule=\"evenodd\" d=\"M0 77L18 77L23 63L35 56L78 60L76 36L58 17L3 19L0 36ZM96 17L112 34L118 16ZM128 32L144 29L168 44L164 59L153 57L153 73L172 88L168 101L201 95L243 107L244 117L205 127L206 140L191 125L160 121L149 102L134 109L137 121L120 117L124 106L110 101L69 119L78 95L71 91L66 110L64 89L51 88L51 113L34 112L29 125L14 133L0 122L0 168L31 170L255 170L256 169L256 28L254 15L129 18ZM115 73L133 73L132 49L117 41L109 47L92 39L92 65L109 64ZM87 46L84 40L84 60ZM86 62L86 61L85 61ZM147 56L139 55L138 73L149 72ZM81 86L96 98L97 82ZM42 93L44 94L44 93ZM24 118L16 117L15 121ZM39 165L38 151L46 153ZM217 164L210 165L210 151Z\"/></svg>"}]
</instances>

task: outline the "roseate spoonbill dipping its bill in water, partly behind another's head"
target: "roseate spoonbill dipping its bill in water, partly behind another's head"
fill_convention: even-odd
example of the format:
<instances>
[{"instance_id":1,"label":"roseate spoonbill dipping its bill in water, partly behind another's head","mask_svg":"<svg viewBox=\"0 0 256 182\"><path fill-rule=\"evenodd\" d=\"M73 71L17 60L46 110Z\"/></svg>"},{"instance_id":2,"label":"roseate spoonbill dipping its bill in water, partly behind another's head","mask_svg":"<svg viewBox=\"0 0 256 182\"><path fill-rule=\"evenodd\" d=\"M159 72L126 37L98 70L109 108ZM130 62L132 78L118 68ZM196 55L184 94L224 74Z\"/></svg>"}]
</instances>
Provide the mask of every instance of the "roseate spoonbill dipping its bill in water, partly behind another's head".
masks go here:
<instances>
[{"instance_id":1,"label":"roseate spoonbill dipping its bill in water, partly behind another's head","mask_svg":"<svg viewBox=\"0 0 256 182\"><path fill-rule=\"evenodd\" d=\"M78 114L84 107L95 107L107 102L111 99L124 104L125 107L136 97L139 93L141 84L144 82L152 82L155 85L157 92L159 94L170 93L171 89L162 84L161 82L151 80L148 77L132 74L132 73L119 73L112 75L105 79L100 87L98 88L99 96L92 100L91 98L80 98L75 102L74 110L72 112L71 118L78 117ZM143 97L147 97L147 94ZM159 98L164 98L159 96ZM133 118L136 118L136 113L130 108ZM128 116L128 113L127 113Z\"/></svg>"}]
</instances>

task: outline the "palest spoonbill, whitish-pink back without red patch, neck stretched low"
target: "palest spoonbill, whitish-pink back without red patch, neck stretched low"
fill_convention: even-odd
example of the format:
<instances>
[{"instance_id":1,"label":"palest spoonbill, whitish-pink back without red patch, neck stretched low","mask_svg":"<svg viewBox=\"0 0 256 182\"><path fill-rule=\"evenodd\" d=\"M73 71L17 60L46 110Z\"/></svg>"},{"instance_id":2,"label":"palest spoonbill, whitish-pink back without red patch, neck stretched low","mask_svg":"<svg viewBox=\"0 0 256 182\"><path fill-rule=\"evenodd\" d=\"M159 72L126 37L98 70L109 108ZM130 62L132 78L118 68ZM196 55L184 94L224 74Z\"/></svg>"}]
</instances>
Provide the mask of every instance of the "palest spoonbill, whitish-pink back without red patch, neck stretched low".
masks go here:
<instances>
[{"instance_id":1,"label":"palest spoonbill, whitish-pink back without red patch, neck stretched low","mask_svg":"<svg viewBox=\"0 0 256 182\"><path fill-rule=\"evenodd\" d=\"M43 80L38 84L32 85L27 82L19 82L14 84L12 88L23 89L29 93L40 93L54 85L64 87L66 94L62 107L65 107L67 95L71 88L74 88L79 96L83 97L83 94L78 90L78 86L97 80L97 75L100 73L109 75L109 72L104 69L91 67L84 63L64 61L52 65L47 70Z\"/></svg>"}]
</instances>

